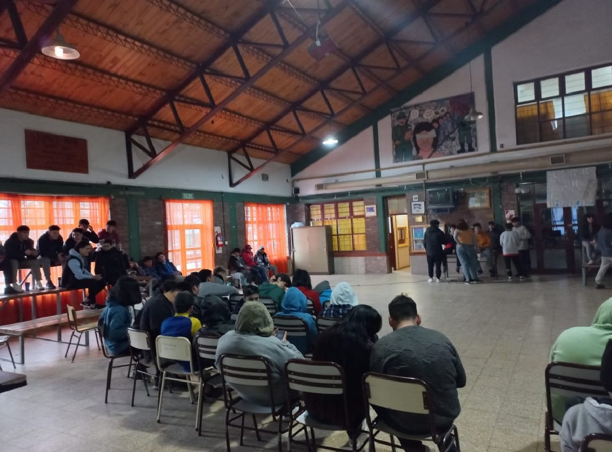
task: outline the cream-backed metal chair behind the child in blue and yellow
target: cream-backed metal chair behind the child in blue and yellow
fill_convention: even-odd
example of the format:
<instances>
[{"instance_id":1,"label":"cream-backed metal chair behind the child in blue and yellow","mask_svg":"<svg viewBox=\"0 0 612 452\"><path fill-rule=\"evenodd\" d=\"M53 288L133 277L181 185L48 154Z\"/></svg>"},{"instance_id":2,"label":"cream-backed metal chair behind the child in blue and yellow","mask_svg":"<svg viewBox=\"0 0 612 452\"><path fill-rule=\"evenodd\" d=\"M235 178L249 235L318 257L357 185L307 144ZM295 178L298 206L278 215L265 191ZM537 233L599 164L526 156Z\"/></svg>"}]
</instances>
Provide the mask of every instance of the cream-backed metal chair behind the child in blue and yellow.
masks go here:
<instances>
[{"instance_id":1,"label":"cream-backed metal chair behind the child in blue and yellow","mask_svg":"<svg viewBox=\"0 0 612 452\"><path fill-rule=\"evenodd\" d=\"M157 422L160 422L162 416L163 390L166 387L166 381L187 383L189 390L190 401L195 401L192 386L199 386L199 381L192 381L189 377L197 377L198 372L193 369L192 345L187 337L174 336L157 336L155 338L155 352L157 352L157 368L162 372L162 384L159 388L159 401L157 403ZM171 360L173 363L162 364L161 360ZM176 361L188 361L191 372L185 371L181 363ZM184 379L169 377L168 374L182 375ZM200 404L202 402L202 392L198 393L198 413L200 412ZM195 427L198 428L198 416L196 415Z\"/></svg>"}]
</instances>

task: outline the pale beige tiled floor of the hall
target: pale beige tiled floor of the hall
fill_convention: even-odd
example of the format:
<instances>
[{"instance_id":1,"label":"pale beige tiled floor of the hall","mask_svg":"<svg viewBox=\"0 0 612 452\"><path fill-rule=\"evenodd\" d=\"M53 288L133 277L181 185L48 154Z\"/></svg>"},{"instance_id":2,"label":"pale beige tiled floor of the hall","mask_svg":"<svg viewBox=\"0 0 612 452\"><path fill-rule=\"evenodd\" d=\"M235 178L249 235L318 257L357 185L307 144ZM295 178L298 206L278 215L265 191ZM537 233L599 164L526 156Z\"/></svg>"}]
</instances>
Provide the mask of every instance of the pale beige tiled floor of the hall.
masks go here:
<instances>
[{"instance_id":1,"label":"pale beige tiled floor of the hall","mask_svg":"<svg viewBox=\"0 0 612 452\"><path fill-rule=\"evenodd\" d=\"M313 282L322 279L313 277ZM543 372L550 346L565 328L589 325L597 306L612 295L582 287L577 277L482 285L428 284L405 273L327 279L332 285L354 284L360 302L376 307L384 318L387 303L406 292L417 301L423 325L451 339L468 373L457 420L466 452L543 450ZM384 325L381 334L389 331ZM12 344L17 351L17 342ZM185 393L166 398L162 423L157 424L156 397L147 399L141 385L136 407L130 407L132 380L125 378L124 369L116 373L104 404L107 361L95 344L80 350L74 364L64 359L64 351L64 344L26 343L27 363L17 366L17 372L28 375L28 386L0 394L0 450L225 451L220 402L205 407L204 437L193 428L195 405ZM2 361L2 367L9 370L10 364ZM237 439L236 432L231 434ZM326 441L344 445L346 435L334 434ZM273 439L257 443L247 434L245 446L234 441L232 450L275 446Z\"/></svg>"}]
</instances>

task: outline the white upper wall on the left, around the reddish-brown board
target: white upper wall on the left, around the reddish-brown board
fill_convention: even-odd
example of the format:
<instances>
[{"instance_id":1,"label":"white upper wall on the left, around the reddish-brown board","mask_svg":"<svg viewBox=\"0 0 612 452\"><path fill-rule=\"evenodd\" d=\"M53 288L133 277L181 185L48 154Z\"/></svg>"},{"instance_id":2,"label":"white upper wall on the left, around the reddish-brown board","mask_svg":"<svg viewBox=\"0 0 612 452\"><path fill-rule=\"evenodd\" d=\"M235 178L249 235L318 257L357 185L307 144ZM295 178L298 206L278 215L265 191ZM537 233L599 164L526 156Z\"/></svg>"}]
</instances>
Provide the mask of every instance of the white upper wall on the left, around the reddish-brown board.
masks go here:
<instances>
[{"instance_id":1,"label":"white upper wall on the left, around the reddish-brown board","mask_svg":"<svg viewBox=\"0 0 612 452\"><path fill-rule=\"evenodd\" d=\"M24 129L40 130L52 134L88 140L89 174L62 173L59 171L31 170L26 168ZM195 146L180 145L165 159L149 168L136 179L127 176L125 137L118 130L76 124L43 118L18 111L0 109L0 176L43 179L49 181L72 181L106 183L125 186L168 187L188 190L211 190L217 192L242 192L250 194L291 196L289 165L273 162L264 173L269 181L261 181L254 175L235 188L230 188L226 153ZM161 148L162 141L156 141ZM138 159L147 157L134 150L135 167ZM263 160L253 159L258 166ZM242 177L246 170L236 165L234 179Z\"/></svg>"}]
</instances>

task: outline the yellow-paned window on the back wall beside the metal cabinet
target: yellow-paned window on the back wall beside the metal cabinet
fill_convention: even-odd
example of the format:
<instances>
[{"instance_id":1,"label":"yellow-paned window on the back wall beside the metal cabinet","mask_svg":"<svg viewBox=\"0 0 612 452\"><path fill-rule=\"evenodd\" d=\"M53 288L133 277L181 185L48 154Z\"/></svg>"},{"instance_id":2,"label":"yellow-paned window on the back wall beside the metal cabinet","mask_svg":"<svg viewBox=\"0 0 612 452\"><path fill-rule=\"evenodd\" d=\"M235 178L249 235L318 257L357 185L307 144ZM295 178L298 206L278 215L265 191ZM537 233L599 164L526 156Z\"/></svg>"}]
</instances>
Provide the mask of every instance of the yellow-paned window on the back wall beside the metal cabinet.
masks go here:
<instances>
[{"instance_id":1,"label":"yellow-paned window on the back wall beside the metal cabinet","mask_svg":"<svg viewBox=\"0 0 612 452\"><path fill-rule=\"evenodd\" d=\"M346 201L310 206L311 226L331 226L334 251L365 251L365 203Z\"/></svg>"}]
</instances>

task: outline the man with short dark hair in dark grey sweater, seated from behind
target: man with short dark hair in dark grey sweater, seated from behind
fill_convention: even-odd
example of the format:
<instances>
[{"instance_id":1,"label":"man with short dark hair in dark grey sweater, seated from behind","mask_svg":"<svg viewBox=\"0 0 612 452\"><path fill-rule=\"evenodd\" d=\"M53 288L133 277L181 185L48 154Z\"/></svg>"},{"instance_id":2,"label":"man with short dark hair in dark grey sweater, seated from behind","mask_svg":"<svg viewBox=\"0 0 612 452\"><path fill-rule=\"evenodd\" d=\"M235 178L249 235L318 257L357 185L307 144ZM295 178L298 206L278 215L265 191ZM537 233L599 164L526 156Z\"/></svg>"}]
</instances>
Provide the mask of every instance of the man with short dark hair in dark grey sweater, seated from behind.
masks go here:
<instances>
[{"instance_id":1,"label":"man with short dark hair in dark grey sweater, seated from behind","mask_svg":"<svg viewBox=\"0 0 612 452\"><path fill-rule=\"evenodd\" d=\"M466 384L465 371L457 350L444 334L420 326L417 305L406 295L389 303L392 333L381 337L372 348L370 370L424 380L431 390L430 410L439 430L449 428L461 412L457 388ZM390 427L407 434L429 434L430 420L374 407ZM399 439L406 451L426 451L420 441Z\"/></svg>"}]
</instances>

